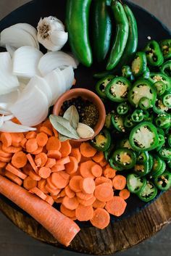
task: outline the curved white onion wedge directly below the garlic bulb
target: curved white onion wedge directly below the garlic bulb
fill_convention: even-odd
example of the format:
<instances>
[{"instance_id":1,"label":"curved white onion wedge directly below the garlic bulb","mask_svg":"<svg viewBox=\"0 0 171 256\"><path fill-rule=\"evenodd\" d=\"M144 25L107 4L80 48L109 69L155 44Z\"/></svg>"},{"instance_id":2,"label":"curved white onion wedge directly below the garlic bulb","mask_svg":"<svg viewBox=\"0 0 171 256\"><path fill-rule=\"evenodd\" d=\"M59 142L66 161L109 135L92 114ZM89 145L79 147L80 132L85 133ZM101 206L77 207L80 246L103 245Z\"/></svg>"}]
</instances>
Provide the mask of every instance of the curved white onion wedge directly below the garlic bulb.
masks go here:
<instances>
[{"instance_id":1,"label":"curved white onion wedge directly below the garlic bulb","mask_svg":"<svg viewBox=\"0 0 171 256\"><path fill-rule=\"evenodd\" d=\"M56 70L57 67L62 66L72 66L73 68L77 67L75 59L73 59L69 54L64 53L63 51L51 51L41 57L40 62L38 63L38 69L41 72L41 75L47 75L52 70Z\"/></svg>"}]
</instances>

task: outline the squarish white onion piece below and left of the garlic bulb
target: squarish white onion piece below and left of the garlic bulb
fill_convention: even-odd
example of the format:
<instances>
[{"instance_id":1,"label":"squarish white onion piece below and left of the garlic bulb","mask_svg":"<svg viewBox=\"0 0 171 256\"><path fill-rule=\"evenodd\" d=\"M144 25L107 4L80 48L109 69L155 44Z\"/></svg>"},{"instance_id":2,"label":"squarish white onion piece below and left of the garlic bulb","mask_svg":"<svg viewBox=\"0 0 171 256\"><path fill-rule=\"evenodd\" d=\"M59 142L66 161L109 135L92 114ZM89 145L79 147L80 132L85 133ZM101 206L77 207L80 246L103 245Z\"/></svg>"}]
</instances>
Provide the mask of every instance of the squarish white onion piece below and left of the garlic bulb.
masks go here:
<instances>
[{"instance_id":1,"label":"squarish white onion piece below and left of the garlic bulb","mask_svg":"<svg viewBox=\"0 0 171 256\"><path fill-rule=\"evenodd\" d=\"M31 46L22 46L14 52L13 74L21 78L32 78L40 75L38 62L43 53Z\"/></svg>"}]
</instances>

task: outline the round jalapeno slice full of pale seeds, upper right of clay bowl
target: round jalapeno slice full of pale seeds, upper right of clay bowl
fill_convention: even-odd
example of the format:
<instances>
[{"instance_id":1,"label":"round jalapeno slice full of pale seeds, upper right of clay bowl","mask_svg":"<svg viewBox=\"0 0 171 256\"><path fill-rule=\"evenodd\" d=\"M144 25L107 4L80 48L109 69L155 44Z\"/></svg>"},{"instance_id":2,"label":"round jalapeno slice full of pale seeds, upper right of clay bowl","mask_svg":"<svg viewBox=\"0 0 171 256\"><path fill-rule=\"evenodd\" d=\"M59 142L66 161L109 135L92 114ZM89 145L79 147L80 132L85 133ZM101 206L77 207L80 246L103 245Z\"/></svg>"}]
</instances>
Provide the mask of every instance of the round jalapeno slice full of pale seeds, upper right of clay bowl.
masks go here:
<instances>
[{"instance_id":1,"label":"round jalapeno slice full of pale seeds, upper right of clay bowl","mask_svg":"<svg viewBox=\"0 0 171 256\"><path fill-rule=\"evenodd\" d=\"M113 78L105 88L107 97L112 102L124 102L127 99L130 81L127 78Z\"/></svg>"}]
</instances>

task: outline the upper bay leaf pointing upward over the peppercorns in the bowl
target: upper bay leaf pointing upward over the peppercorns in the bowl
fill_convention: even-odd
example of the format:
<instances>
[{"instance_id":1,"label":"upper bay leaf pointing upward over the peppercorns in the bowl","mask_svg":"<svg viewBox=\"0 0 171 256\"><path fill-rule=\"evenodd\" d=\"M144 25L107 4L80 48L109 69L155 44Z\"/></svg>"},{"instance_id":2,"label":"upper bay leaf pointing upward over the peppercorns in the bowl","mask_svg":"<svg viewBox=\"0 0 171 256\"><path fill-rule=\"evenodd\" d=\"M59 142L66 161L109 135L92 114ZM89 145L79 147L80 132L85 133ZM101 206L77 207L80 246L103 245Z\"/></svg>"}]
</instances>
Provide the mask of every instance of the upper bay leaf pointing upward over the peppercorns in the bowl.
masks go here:
<instances>
[{"instance_id":1,"label":"upper bay leaf pointing upward over the peppercorns in the bowl","mask_svg":"<svg viewBox=\"0 0 171 256\"><path fill-rule=\"evenodd\" d=\"M65 112L63 117L67 119L70 124L72 125L73 128L77 129L78 128L78 123L79 123L79 115L78 115L78 110L74 105L70 106Z\"/></svg>"}]
</instances>

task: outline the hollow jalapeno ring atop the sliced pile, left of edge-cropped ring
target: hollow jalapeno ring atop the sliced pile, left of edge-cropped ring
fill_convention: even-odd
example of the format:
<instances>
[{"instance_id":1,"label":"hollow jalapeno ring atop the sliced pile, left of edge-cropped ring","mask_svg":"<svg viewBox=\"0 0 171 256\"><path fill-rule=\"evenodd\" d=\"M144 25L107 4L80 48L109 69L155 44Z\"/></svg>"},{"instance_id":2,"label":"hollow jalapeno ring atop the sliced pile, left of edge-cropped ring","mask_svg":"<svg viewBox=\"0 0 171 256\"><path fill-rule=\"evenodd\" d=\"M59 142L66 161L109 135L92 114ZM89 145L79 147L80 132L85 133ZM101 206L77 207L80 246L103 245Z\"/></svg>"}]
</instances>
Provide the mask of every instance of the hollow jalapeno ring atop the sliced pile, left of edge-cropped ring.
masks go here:
<instances>
[{"instance_id":1,"label":"hollow jalapeno ring atop the sliced pile, left of edge-cropped ring","mask_svg":"<svg viewBox=\"0 0 171 256\"><path fill-rule=\"evenodd\" d=\"M149 41L144 51L146 52L146 59L149 65L159 67L163 64L164 58L157 41Z\"/></svg>"}]
</instances>

